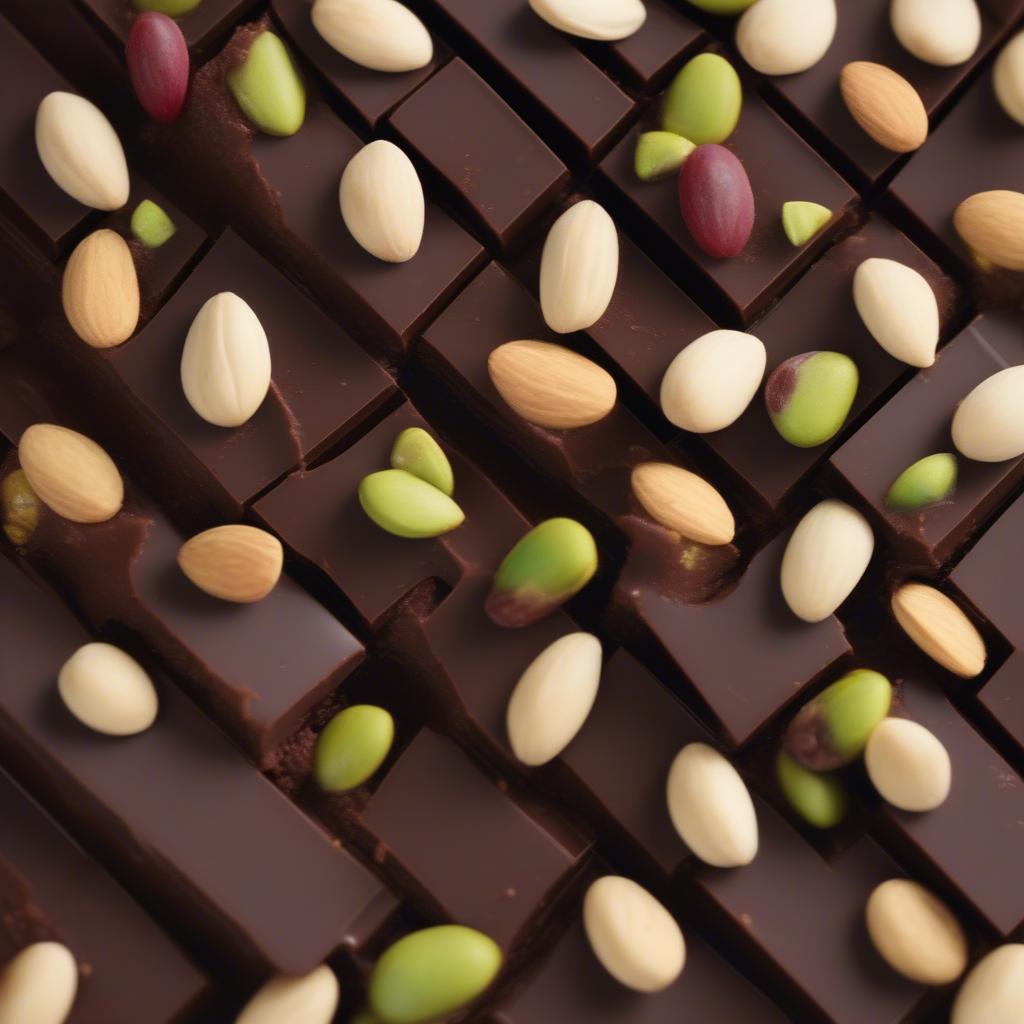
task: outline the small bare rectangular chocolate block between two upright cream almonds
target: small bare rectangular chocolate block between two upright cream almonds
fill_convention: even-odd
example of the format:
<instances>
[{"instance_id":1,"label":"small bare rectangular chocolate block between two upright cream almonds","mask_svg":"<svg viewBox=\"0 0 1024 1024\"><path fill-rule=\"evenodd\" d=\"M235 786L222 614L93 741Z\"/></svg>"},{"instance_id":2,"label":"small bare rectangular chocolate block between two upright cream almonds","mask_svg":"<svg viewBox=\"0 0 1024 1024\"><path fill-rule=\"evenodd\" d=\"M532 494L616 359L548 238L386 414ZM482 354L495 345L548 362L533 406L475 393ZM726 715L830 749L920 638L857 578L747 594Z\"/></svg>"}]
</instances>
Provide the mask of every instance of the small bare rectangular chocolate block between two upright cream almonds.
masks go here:
<instances>
[{"instance_id":1,"label":"small bare rectangular chocolate block between two upright cream almonds","mask_svg":"<svg viewBox=\"0 0 1024 1024\"><path fill-rule=\"evenodd\" d=\"M456 109L459 116L453 119ZM568 183L565 165L458 57L417 89L389 121L502 249Z\"/></svg>"}]
</instances>

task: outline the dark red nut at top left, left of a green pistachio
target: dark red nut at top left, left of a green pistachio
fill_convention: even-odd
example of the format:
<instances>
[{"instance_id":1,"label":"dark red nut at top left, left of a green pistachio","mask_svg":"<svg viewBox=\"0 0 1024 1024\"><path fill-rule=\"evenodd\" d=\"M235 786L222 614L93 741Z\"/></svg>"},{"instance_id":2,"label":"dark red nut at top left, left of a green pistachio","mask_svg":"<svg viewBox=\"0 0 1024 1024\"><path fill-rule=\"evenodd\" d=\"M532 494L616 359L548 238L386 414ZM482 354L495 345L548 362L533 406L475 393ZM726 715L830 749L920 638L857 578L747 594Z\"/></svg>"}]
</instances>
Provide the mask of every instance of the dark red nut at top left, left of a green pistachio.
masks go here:
<instances>
[{"instance_id":1,"label":"dark red nut at top left, left of a green pistachio","mask_svg":"<svg viewBox=\"0 0 1024 1024\"><path fill-rule=\"evenodd\" d=\"M142 109L154 121L174 121L188 92L188 46L177 23L146 11L135 18L125 47L128 74Z\"/></svg>"}]
</instances>

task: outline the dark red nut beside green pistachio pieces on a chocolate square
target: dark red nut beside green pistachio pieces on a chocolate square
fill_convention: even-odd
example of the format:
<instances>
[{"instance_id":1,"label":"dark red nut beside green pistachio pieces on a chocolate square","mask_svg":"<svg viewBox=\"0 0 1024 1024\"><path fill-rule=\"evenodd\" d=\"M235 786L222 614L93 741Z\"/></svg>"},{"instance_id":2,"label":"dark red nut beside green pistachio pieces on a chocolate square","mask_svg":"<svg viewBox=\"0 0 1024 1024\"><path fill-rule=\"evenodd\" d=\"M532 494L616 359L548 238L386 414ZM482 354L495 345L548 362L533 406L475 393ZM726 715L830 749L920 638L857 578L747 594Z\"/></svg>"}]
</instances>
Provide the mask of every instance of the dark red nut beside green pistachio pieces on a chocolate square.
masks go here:
<instances>
[{"instance_id":1,"label":"dark red nut beside green pistachio pieces on a chocolate square","mask_svg":"<svg viewBox=\"0 0 1024 1024\"><path fill-rule=\"evenodd\" d=\"M679 171L679 208L709 256L738 256L754 228L754 193L739 160L724 145L698 145Z\"/></svg>"}]
</instances>

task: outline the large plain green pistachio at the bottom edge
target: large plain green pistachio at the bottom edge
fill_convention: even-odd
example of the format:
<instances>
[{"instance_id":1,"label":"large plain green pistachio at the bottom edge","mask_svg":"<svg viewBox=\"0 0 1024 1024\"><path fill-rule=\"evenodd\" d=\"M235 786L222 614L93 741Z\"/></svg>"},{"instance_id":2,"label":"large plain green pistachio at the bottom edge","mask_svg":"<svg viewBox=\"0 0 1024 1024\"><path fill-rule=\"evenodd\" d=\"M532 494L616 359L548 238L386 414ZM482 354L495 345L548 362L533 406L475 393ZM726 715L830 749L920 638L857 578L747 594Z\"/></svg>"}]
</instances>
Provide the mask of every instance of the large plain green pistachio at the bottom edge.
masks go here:
<instances>
[{"instance_id":1,"label":"large plain green pistachio at the bottom edge","mask_svg":"<svg viewBox=\"0 0 1024 1024\"><path fill-rule=\"evenodd\" d=\"M501 949L482 932L425 928L381 954L368 983L370 1009L382 1024L446 1018L479 996L501 966Z\"/></svg>"}]
</instances>

